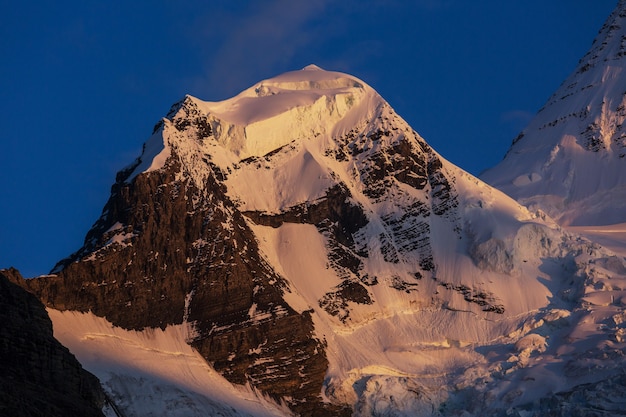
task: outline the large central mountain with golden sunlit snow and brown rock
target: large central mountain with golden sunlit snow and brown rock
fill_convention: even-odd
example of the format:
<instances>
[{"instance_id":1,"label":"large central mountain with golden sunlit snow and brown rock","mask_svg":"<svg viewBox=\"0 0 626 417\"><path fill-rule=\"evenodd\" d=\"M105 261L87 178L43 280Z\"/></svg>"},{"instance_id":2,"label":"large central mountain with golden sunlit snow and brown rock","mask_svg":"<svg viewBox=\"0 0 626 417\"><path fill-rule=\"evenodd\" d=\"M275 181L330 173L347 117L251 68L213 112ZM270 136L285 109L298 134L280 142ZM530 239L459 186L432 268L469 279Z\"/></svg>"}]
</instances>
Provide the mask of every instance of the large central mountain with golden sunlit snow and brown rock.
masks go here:
<instances>
[{"instance_id":1,"label":"large central mountain with golden sunlit snow and brown rock","mask_svg":"<svg viewBox=\"0 0 626 417\"><path fill-rule=\"evenodd\" d=\"M182 328L232 384L300 415L559 410L583 384L623 388L624 259L315 66L175 104L84 246L22 285L146 340ZM120 372L98 374L114 398Z\"/></svg>"}]
</instances>

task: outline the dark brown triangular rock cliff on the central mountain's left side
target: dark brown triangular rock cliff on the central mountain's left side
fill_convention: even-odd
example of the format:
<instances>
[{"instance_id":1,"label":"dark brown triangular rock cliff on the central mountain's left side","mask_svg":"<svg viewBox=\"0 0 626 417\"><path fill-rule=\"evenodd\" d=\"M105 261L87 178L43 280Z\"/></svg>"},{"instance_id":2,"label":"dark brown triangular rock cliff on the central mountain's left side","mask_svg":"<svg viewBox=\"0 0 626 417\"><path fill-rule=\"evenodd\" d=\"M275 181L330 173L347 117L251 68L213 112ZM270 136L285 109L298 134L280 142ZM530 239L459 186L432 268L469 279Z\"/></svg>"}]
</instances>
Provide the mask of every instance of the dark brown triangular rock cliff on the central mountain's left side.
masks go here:
<instances>
[{"instance_id":1,"label":"dark brown triangular rock cliff on the central mountain's left side","mask_svg":"<svg viewBox=\"0 0 626 417\"><path fill-rule=\"evenodd\" d=\"M134 168L118 176L85 246L27 288L48 306L91 310L127 329L188 323L187 342L231 382L291 398L303 415L329 412L319 405L327 360L310 313L283 300L284 280L260 255L219 170L199 190L177 178L176 154L127 182Z\"/></svg>"}]
</instances>

